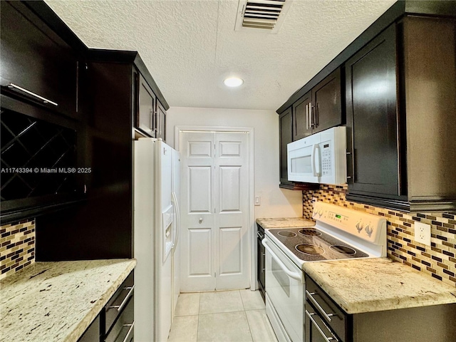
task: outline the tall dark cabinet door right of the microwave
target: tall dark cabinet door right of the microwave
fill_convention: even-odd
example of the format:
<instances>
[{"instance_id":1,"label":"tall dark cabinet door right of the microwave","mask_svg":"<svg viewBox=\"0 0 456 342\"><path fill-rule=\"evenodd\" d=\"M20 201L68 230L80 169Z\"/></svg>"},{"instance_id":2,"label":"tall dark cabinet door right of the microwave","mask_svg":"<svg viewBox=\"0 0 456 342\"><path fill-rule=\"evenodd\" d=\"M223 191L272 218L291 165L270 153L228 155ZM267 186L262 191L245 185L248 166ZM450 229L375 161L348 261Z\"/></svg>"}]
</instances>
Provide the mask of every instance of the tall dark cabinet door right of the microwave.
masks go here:
<instances>
[{"instance_id":1,"label":"tall dark cabinet door right of the microwave","mask_svg":"<svg viewBox=\"0 0 456 342\"><path fill-rule=\"evenodd\" d=\"M392 25L346 62L349 193L399 195L396 91Z\"/></svg>"}]
</instances>

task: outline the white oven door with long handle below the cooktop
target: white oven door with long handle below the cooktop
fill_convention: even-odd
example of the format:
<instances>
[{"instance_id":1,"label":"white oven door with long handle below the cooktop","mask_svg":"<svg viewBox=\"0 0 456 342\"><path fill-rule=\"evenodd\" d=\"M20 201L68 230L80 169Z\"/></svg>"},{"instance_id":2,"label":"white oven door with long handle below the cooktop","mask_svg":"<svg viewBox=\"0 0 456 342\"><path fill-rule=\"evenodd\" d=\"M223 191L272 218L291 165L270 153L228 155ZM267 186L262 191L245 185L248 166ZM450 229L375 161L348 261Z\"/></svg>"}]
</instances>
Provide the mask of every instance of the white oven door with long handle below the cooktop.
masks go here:
<instances>
[{"instance_id":1,"label":"white oven door with long handle below the cooktop","mask_svg":"<svg viewBox=\"0 0 456 342\"><path fill-rule=\"evenodd\" d=\"M267 237L262 244L266 248L266 295L289 340L304 341L303 271Z\"/></svg>"}]
</instances>

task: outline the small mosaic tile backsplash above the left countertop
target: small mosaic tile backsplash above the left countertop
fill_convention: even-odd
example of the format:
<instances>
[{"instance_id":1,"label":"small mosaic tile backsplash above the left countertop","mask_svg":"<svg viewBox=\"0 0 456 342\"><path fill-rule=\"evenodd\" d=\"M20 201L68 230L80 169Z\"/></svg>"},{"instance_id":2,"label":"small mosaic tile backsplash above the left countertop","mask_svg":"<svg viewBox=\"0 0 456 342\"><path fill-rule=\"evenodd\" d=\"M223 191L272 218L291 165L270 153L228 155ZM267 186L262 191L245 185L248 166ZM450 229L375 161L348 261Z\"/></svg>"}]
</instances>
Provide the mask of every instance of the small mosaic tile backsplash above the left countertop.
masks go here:
<instances>
[{"instance_id":1,"label":"small mosaic tile backsplash above the left countertop","mask_svg":"<svg viewBox=\"0 0 456 342\"><path fill-rule=\"evenodd\" d=\"M35 262L35 220L0 227L0 279Z\"/></svg>"}]
</instances>

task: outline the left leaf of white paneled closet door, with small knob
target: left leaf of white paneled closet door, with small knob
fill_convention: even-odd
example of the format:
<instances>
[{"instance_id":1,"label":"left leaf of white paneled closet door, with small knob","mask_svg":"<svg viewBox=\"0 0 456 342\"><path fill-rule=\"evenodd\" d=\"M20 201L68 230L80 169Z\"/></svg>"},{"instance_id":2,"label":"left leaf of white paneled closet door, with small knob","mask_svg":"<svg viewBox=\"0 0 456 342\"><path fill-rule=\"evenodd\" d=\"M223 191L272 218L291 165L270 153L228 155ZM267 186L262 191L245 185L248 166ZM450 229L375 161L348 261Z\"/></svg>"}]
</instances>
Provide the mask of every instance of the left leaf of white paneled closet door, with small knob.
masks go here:
<instances>
[{"instance_id":1,"label":"left leaf of white paneled closet door, with small knob","mask_svg":"<svg viewBox=\"0 0 456 342\"><path fill-rule=\"evenodd\" d=\"M181 291L211 291L214 277L214 133L181 133Z\"/></svg>"}]
</instances>

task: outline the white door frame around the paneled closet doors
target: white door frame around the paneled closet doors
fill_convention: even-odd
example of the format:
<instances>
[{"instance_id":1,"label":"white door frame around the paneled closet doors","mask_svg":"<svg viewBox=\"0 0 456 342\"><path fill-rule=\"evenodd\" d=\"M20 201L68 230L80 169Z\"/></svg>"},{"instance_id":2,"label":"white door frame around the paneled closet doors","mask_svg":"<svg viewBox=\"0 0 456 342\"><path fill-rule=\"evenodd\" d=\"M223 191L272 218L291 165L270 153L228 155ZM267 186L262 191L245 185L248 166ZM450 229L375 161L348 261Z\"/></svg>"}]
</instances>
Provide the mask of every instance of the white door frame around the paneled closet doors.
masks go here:
<instances>
[{"instance_id":1,"label":"white door frame around the paneled closet doors","mask_svg":"<svg viewBox=\"0 0 456 342\"><path fill-rule=\"evenodd\" d=\"M249 228L248 234L250 246L250 289L257 287L257 265L254 263L257 253L257 235L255 233L255 209L254 209L254 128L232 126L201 126L201 125L175 125L174 145L179 148L179 135L181 132L195 133L249 133Z\"/></svg>"}]
</instances>

